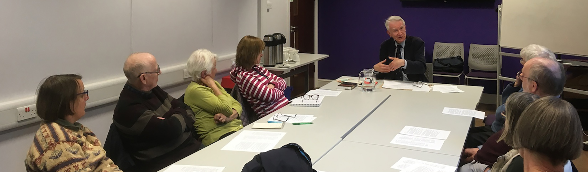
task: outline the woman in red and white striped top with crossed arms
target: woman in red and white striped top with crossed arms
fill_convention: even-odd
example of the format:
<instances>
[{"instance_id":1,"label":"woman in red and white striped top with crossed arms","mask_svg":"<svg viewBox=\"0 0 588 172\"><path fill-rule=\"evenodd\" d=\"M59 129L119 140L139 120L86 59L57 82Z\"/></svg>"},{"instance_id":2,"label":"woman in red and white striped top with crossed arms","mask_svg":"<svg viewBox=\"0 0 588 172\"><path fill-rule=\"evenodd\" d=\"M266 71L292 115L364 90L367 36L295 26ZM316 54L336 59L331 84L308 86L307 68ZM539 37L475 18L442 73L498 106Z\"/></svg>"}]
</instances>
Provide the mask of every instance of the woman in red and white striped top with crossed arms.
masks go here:
<instances>
[{"instance_id":1,"label":"woman in red and white striped top with crossed arms","mask_svg":"<svg viewBox=\"0 0 588 172\"><path fill-rule=\"evenodd\" d=\"M230 71L230 79L239 87L251 108L264 117L288 104L284 97L286 81L257 65L263 56L265 42L253 36L245 36L237 45L236 65Z\"/></svg>"}]
</instances>

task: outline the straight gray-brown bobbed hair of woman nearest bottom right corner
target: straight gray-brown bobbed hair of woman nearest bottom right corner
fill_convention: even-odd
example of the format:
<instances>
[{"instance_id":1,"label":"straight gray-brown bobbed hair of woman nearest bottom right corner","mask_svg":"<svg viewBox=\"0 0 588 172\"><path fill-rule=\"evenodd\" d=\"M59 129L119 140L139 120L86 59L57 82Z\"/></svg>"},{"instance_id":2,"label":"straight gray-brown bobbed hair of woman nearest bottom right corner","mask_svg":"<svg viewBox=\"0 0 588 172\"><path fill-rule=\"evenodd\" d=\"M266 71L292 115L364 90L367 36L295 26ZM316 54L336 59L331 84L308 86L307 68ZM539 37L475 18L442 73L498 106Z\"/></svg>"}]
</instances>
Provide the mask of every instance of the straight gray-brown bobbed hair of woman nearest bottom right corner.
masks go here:
<instances>
[{"instance_id":1,"label":"straight gray-brown bobbed hair of woman nearest bottom right corner","mask_svg":"<svg viewBox=\"0 0 588 172\"><path fill-rule=\"evenodd\" d=\"M523 111L513 134L513 148L540 154L553 166L563 166L582 151L582 124L576 108L560 98L548 96Z\"/></svg>"}]
</instances>

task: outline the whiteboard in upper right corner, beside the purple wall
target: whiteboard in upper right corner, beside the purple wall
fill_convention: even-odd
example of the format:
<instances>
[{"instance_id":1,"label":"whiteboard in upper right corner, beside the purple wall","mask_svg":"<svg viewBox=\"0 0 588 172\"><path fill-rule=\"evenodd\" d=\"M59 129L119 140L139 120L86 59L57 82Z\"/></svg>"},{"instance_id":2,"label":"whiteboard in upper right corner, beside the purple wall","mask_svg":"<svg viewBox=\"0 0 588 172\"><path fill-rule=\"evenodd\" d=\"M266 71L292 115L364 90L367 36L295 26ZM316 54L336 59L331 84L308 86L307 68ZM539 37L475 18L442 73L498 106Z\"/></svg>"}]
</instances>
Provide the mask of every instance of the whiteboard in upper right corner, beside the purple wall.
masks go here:
<instances>
[{"instance_id":1,"label":"whiteboard in upper right corner, beside the purple wall","mask_svg":"<svg viewBox=\"0 0 588 172\"><path fill-rule=\"evenodd\" d=\"M588 56L588 1L503 0L500 46L543 45L558 54Z\"/></svg>"}]
</instances>

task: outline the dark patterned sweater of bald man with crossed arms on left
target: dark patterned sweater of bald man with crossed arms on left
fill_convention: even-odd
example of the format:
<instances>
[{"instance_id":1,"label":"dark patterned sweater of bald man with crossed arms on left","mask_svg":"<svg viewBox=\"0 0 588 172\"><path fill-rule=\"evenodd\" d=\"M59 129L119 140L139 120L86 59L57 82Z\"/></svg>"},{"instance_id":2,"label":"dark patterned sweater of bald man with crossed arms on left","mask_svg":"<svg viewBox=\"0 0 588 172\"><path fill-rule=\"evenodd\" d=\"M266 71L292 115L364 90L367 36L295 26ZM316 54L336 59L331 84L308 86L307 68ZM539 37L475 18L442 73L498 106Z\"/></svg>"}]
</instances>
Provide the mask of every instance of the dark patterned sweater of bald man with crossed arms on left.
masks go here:
<instances>
[{"instance_id":1,"label":"dark patterned sweater of bald man with crossed arms on left","mask_svg":"<svg viewBox=\"0 0 588 172\"><path fill-rule=\"evenodd\" d=\"M171 159L167 157L179 160L200 147L192 135L192 110L159 86L143 92L125 84L112 120L138 164Z\"/></svg>"}]
</instances>

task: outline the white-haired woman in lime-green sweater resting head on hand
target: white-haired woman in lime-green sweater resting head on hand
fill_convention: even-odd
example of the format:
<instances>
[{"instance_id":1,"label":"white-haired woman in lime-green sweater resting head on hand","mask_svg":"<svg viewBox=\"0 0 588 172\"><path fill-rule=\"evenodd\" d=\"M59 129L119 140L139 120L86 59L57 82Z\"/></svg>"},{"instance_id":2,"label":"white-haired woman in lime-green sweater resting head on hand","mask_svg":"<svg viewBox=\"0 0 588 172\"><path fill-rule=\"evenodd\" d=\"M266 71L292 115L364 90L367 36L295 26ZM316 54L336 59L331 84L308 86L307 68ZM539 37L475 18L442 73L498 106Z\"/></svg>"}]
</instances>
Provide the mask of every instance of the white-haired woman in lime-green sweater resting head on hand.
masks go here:
<instances>
[{"instance_id":1,"label":"white-haired woman in lime-green sweater resting head on hand","mask_svg":"<svg viewBox=\"0 0 588 172\"><path fill-rule=\"evenodd\" d=\"M198 49L188 59L192 82L186 88L184 102L194 111L194 127L205 146L243 128L238 119L241 105L214 80L216 59L208 49Z\"/></svg>"}]
</instances>

